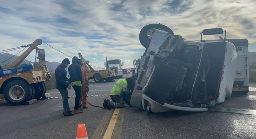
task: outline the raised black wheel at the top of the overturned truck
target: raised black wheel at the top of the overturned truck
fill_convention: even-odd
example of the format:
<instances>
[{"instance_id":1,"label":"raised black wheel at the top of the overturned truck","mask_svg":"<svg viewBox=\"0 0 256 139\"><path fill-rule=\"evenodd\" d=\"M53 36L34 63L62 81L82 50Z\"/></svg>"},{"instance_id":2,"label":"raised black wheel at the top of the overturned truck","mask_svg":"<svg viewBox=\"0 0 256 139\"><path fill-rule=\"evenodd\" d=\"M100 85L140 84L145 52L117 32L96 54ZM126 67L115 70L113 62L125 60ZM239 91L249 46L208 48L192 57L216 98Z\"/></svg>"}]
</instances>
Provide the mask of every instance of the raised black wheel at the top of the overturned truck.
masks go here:
<instances>
[{"instance_id":1,"label":"raised black wheel at the top of the overturned truck","mask_svg":"<svg viewBox=\"0 0 256 139\"><path fill-rule=\"evenodd\" d=\"M150 45L150 41L156 29L169 32L169 34L173 34L172 29L162 24L149 24L144 26L140 31L139 39L141 45L143 45L146 49Z\"/></svg>"}]
</instances>

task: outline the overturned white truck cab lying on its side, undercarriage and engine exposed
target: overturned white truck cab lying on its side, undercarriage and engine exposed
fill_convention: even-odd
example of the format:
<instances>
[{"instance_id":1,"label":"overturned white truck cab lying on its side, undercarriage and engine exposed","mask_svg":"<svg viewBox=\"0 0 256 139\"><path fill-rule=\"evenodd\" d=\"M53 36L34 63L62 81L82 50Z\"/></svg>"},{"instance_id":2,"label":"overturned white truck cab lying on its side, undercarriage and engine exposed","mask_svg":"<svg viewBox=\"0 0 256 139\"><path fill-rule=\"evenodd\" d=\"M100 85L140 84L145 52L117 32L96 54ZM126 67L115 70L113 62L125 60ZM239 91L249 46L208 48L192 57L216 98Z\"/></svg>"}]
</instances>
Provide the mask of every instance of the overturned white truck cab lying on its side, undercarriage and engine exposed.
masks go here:
<instances>
[{"instance_id":1,"label":"overturned white truck cab lying on its side, undercarriage and engine exposed","mask_svg":"<svg viewBox=\"0 0 256 139\"><path fill-rule=\"evenodd\" d=\"M223 34L220 40L202 35ZM142 28L146 48L130 105L151 112L207 111L230 97L234 87L237 51L222 28L204 29L201 40L186 40L161 24ZM246 86L247 87L247 86Z\"/></svg>"}]
</instances>

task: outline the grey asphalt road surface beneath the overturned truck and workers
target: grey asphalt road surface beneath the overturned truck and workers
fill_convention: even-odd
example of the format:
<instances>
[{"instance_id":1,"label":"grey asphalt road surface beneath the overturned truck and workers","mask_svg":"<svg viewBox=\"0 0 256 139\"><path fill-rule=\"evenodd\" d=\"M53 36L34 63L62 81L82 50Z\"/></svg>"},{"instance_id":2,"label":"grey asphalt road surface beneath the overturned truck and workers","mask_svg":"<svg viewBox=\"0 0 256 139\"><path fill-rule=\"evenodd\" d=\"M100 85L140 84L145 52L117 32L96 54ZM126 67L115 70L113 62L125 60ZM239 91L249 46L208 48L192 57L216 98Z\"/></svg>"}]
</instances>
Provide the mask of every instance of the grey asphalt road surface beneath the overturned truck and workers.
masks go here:
<instances>
[{"instance_id":1,"label":"grey asphalt road surface beneath the overturned truck and workers","mask_svg":"<svg viewBox=\"0 0 256 139\"><path fill-rule=\"evenodd\" d=\"M108 95L114 83L90 81L88 95ZM256 85L251 84L250 87L254 90ZM58 90L47 93L51 97L60 97ZM74 96L74 91L70 90L69 95ZM109 96L87 99L94 105L102 106L103 100L109 99ZM69 104L72 109L74 98L69 99ZM0 138L70 139L76 137L77 124L80 123L86 124L88 138L102 138L114 109L88 107L82 114L65 117L60 98L38 100L28 106L0 102ZM256 110L256 90L247 95L233 94L216 107ZM148 113L126 107L119 109L112 138L256 138L256 115L214 111Z\"/></svg>"}]
</instances>

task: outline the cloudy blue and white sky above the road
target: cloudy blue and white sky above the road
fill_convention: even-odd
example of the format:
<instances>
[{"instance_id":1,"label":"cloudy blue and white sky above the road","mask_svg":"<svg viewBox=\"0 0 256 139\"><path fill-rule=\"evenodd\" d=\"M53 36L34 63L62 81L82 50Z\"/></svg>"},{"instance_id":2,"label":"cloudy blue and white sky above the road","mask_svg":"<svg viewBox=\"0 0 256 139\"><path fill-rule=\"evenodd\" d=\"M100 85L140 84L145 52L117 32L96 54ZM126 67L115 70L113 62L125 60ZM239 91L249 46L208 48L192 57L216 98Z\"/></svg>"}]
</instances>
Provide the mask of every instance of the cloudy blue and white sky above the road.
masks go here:
<instances>
[{"instance_id":1,"label":"cloudy blue and white sky above the road","mask_svg":"<svg viewBox=\"0 0 256 139\"><path fill-rule=\"evenodd\" d=\"M104 67L108 56L130 66L145 51L141 28L161 23L197 40L202 29L222 27L228 39L248 39L255 52L255 12L255 0L1 0L0 50L41 38L71 57L80 52L91 65ZM65 58L44 43L39 48L48 61Z\"/></svg>"}]
</instances>

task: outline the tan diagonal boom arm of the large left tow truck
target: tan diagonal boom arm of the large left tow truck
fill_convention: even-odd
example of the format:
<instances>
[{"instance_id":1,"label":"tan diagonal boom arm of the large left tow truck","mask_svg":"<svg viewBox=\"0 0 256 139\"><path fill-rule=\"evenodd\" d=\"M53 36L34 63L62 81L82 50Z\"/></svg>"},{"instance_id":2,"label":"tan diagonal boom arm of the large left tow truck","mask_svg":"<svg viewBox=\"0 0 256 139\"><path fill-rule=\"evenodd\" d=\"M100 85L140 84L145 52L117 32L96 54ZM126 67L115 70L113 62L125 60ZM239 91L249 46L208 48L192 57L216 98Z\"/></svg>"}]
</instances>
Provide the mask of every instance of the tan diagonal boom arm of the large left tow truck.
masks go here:
<instances>
[{"instance_id":1,"label":"tan diagonal boom arm of the large left tow truck","mask_svg":"<svg viewBox=\"0 0 256 139\"><path fill-rule=\"evenodd\" d=\"M22 61L40 44L42 44L41 39L37 39L32 44L29 44L28 49L6 68L18 67L19 64L22 63Z\"/></svg>"}]
</instances>

